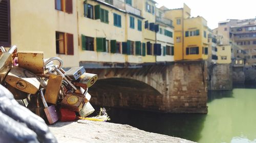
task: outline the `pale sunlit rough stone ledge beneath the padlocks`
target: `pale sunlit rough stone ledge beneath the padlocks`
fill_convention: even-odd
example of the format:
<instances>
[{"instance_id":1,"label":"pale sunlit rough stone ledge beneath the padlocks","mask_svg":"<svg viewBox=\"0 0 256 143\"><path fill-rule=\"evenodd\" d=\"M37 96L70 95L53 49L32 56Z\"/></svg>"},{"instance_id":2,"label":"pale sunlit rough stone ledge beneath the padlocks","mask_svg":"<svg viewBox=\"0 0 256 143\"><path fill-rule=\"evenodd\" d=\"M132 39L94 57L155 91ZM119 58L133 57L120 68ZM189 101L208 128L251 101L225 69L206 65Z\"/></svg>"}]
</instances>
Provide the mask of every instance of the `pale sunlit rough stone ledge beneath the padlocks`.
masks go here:
<instances>
[{"instance_id":1,"label":"pale sunlit rough stone ledge beneath the padlocks","mask_svg":"<svg viewBox=\"0 0 256 143\"><path fill-rule=\"evenodd\" d=\"M50 126L58 142L173 142L193 141L139 130L129 125L107 122L58 122Z\"/></svg>"}]
</instances>

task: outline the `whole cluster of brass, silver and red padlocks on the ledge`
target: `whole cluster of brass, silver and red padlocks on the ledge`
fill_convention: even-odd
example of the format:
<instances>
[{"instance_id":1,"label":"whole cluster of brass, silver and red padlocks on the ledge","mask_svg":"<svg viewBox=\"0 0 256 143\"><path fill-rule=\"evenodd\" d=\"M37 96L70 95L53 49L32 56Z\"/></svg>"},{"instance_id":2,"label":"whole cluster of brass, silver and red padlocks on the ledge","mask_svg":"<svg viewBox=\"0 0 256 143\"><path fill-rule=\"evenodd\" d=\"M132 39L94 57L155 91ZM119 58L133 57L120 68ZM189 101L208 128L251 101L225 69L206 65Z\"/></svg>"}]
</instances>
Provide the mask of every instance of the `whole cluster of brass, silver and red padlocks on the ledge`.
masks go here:
<instances>
[{"instance_id":1,"label":"whole cluster of brass, silver and red padlocks on the ledge","mask_svg":"<svg viewBox=\"0 0 256 143\"><path fill-rule=\"evenodd\" d=\"M83 67L65 71L60 58L44 59L40 51L17 52L16 46L0 50L1 84L49 124L74 121L94 112L88 88L96 82L97 74L87 73Z\"/></svg>"}]
</instances>

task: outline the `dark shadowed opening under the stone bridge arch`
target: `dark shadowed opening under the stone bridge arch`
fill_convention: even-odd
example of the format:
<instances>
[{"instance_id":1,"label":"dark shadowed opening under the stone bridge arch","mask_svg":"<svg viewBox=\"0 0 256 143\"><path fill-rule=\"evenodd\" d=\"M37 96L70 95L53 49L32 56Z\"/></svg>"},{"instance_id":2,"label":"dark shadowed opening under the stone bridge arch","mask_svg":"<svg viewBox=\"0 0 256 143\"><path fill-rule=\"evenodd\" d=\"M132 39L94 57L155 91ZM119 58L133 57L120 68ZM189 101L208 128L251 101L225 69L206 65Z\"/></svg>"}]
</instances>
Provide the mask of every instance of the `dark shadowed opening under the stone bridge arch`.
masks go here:
<instances>
[{"instance_id":1,"label":"dark shadowed opening under the stone bridge arch","mask_svg":"<svg viewBox=\"0 0 256 143\"><path fill-rule=\"evenodd\" d=\"M163 96L150 85L129 78L99 79L89 88L91 103L98 106L159 111Z\"/></svg>"}]
</instances>

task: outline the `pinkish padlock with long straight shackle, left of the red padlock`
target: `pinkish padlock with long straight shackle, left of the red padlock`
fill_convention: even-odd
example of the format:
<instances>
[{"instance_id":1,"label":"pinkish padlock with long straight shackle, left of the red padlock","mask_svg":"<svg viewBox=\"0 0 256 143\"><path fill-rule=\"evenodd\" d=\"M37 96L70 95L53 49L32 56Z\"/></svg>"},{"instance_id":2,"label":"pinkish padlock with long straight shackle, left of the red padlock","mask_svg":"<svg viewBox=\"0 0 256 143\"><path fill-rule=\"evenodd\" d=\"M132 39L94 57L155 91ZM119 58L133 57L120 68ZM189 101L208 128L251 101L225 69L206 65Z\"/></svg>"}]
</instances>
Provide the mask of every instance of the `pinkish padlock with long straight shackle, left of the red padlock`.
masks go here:
<instances>
[{"instance_id":1,"label":"pinkish padlock with long straight shackle, left of the red padlock","mask_svg":"<svg viewBox=\"0 0 256 143\"><path fill-rule=\"evenodd\" d=\"M51 105L48 107L47 103L46 103L46 100L45 100L45 97L44 97L44 93L42 93L42 90L44 89L40 89L40 96L41 96L41 99L42 99L42 103L44 104L45 106L45 113L46 113L46 117L47 117L47 120L49 122L49 124L53 124L55 122L58 121L58 115L57 115L57 111L56 111L56 108L54 105Z\"/></svg>"}]
</instances>

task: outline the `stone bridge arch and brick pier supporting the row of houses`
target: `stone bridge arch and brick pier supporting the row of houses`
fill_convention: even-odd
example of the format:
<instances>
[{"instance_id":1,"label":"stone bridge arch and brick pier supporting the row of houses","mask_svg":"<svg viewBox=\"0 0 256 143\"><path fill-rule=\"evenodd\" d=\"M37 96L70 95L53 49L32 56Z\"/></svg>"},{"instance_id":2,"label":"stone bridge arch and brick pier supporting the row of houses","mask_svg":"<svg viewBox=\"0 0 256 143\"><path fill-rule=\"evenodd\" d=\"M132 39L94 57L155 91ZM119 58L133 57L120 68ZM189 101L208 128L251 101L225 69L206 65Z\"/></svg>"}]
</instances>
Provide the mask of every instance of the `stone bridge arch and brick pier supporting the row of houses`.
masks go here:
<instances>
[{"instance_id":1,"label":"stone bridge arch and brick pier supporting the row of houses","mask_svg":"<svg viewBox=\"0 0 256 143\"><path fill-rule=\"evenodd\" d=\"M205 61L164 63L80 62L98 74L94 105L179 113L207 113Z\"/></svg>"}]
</instances>

